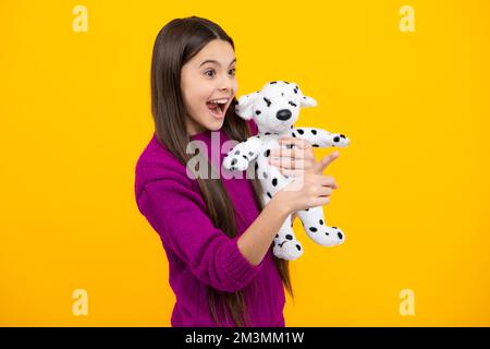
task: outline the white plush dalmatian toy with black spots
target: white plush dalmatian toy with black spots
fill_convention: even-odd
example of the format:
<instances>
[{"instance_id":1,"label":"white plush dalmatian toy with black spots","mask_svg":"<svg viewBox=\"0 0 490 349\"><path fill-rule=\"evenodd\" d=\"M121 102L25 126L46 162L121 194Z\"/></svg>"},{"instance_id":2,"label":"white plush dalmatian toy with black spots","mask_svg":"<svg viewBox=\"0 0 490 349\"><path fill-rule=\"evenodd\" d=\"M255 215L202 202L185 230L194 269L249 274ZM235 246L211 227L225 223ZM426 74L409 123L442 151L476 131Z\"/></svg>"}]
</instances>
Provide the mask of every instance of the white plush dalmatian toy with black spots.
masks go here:
<instances>
[{"instance_id":1,"label":"white plush dalmatian toy with black spots","mask_svg":"<svg viewBox=\"0 0 490 349\"><path fill-rule=\"evenodd\" d=\"M267 83L260 91L237 100L236 113L245 120L254 119L258 134L236 144L224 157L223 167L244 171L255 160L255 171L264 189L264 205L294 180L268 163L270 151L280 147L279 139L298 137L315 147L348 145L350 140L343 134L315 128L293 128L298 119L299 108L316 105L316 100L304 96L296 84L285 81ZM345 236L341 229L327 226L321 206L298 210L297 216L308 237L316 243L333 246L344 242ZM291 215L280 228L272 245L274 255L280 258L293 261L303 254L302 244L294 237Z\"/></svg>"}]
</instances>

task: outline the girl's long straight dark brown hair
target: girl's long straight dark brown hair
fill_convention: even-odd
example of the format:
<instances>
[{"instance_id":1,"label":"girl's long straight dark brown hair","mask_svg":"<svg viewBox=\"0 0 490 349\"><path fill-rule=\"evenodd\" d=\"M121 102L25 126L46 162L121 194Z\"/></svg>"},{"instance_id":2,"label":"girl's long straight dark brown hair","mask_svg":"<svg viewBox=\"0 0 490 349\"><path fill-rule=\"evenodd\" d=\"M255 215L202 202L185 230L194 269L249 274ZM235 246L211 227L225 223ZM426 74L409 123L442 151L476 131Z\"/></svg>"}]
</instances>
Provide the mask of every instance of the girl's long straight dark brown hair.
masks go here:
<instances>
[{"instance_id":1,"label":"girl's long straight dark brown hair","mask_svg":"<svg viewBox=\"0 0 490 349\"><path fill-rule=\"evenodd\" d=\"M181 94L181 69L200 49L213 39L225 40L234 44L231 37L216 23L191 16L175 19L169 22L158 33L155 40L151 59L151 113L155 121L155 133L158 141L163 144L184 166L192 154L186 153L189 135L186 131L186 109ZM231 103L223 122L223 131L230 137L238 142L252 136L247 122L235 112L235 101ZM208 169L211 169L211 164ZM208 172L209 173L209 172ZM249 178L254 188L254 196L257 206L261 210L261 186L257 178ZM207 205L207 213L217 228L220 228L229 237L237 234L234 220L235 210L220 179L197 178L199 189ZM281 280L293 297L293 288L289 270L289 262L274 258L274 264L281 276ZM218 301L222 302L230 311L236 326L248 325L245 298L242 290L236 292L223 292L208 287L209 310L216 323L219 323L216 312ZM224 311L225 316L226 309Z\"/></svg>"}]
</instances>

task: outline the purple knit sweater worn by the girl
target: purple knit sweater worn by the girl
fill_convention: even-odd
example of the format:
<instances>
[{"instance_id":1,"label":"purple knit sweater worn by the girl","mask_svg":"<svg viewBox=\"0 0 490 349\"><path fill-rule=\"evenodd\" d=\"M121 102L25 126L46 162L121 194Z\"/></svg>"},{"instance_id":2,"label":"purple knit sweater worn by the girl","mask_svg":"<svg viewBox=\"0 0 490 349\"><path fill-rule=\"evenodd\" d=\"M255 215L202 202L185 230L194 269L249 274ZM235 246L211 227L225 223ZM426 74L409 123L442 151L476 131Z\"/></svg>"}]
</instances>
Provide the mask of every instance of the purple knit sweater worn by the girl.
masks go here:
<instances>
[{"instance_id":1,"label":"purple knit sweater worn by the girl","mask_svg":"<svg viewBox=\"0 0 490 349\"><path fill-rule=\"evenodd\" d=\"M252 121L249 125L256 134L256 124ZM222 130L219 135L221 146L229 137ZM205 142L210 152L210 131L191 139ZM208 156L212 158L210 153ZM217 166L223 157L220 154ZM135 174L138 209L160 236L169 258L169 282L176 299L172 326L219 326L208 310L208 286L226 292L242 289L250 326L285 326L284 289L272 250L254 266L237 246L237 238L259 215L245 174L243 179L221 178L234 208L243 216L235 217L238 234L233 239L213 226L197 181L187 176L185 166L158 142L155 133L138 158ZM224 306L218 303L217 309L221 323L234 326L231 315L224 314Z\"/></svg>"}]
</instances>

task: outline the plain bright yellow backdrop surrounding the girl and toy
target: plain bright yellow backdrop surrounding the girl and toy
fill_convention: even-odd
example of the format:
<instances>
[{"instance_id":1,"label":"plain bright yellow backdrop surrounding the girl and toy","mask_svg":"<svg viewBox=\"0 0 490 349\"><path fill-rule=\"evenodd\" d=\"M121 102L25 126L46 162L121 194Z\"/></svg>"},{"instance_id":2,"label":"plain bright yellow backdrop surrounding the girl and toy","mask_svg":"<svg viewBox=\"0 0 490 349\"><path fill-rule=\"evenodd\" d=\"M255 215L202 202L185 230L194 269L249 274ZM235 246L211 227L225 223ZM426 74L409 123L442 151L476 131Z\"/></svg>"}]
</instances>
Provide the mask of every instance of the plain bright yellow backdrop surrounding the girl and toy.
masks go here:
<instances>
[{"instance_id":1,"label":"plain bright yellow backdrop surrounding the girl and toy","mask_svg":"<svg viewBox=\"0 0 490 349\"><path fill-rule=\"evenodd\" d=\"M72 10L88 10L75 33ZM415 9L402 33L400 8ZM220 24L238 96L297 83L297 125L352 140L327 173L346 243L292 265L287 326L490 325L488 1L1 1L0 325L169 326L174 296L135 205L151 49L174 17ZM316 149L318 158L331 149ZM72 313L75 289L88 315ZM415 315L399 312L415 293Z\"/></svg>"}]
</instances>

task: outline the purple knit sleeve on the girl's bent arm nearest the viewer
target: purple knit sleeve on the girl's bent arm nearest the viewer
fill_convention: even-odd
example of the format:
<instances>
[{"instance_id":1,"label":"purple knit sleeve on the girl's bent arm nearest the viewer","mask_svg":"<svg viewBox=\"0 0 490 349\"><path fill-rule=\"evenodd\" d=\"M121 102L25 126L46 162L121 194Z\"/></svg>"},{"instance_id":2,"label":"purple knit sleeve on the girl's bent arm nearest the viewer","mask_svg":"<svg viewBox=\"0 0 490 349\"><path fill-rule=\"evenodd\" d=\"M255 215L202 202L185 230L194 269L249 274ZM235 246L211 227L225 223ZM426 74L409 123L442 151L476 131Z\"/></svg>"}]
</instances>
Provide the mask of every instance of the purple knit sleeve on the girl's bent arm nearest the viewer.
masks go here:
<instances>
[{"instance_id":1,"label":"purple knit sleeve on the girl's bent arm nearest the viewer","mask_svg":"<svg viewBox=\"0 0 490 349\"><path fill-rule=\"evenodd\" d=\"M139 197L145 217L162 241L204 284L235 292L259 273L238 249L237 240L216 228L203 197L181 181L158 179L145 184Z\"/></svg>"}]
</instances>

